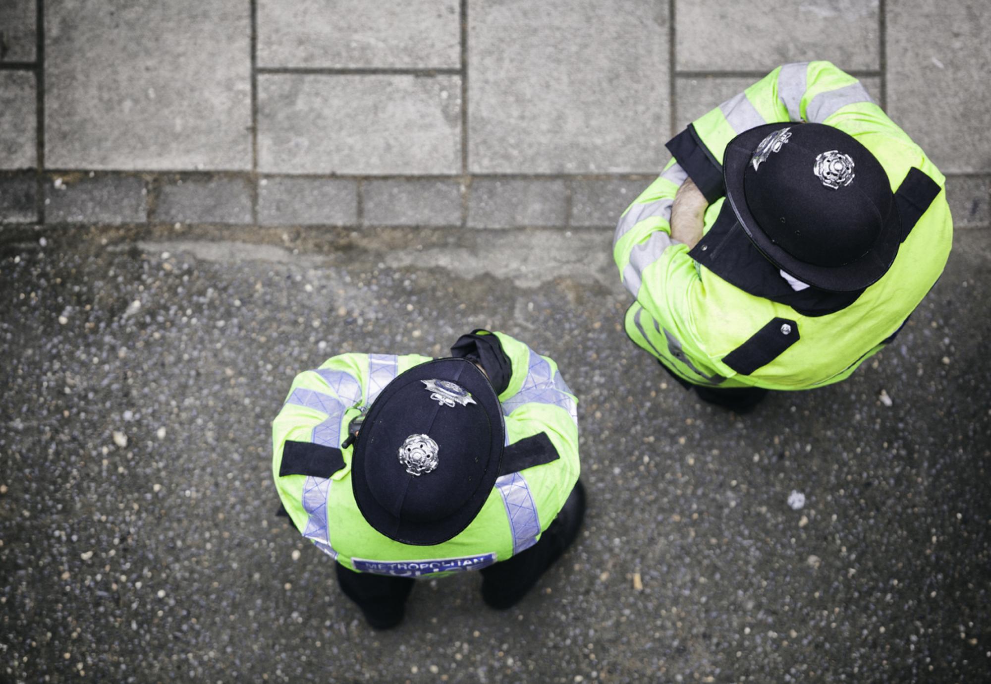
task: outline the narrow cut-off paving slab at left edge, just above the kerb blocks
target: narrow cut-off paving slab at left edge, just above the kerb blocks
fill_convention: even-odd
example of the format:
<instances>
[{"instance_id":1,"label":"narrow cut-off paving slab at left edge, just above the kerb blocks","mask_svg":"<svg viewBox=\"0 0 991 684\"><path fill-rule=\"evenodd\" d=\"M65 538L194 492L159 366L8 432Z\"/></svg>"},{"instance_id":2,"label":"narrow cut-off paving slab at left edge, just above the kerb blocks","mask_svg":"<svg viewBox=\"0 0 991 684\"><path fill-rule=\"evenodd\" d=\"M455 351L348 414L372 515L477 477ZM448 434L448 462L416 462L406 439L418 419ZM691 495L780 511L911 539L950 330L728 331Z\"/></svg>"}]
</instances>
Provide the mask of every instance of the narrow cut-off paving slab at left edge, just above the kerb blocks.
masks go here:
<instances>
[{"instance_id":1,"label":"narrow cut-off paving slab at left edge, just above the kerb blocks","mask_svg":"<svg viewBox=\"0 0 991 684\"><path fill-rule=\"evenodd\" d=\"M38 165L35 74L0 71L0 169Z\"/></svg>"}]
</instances>

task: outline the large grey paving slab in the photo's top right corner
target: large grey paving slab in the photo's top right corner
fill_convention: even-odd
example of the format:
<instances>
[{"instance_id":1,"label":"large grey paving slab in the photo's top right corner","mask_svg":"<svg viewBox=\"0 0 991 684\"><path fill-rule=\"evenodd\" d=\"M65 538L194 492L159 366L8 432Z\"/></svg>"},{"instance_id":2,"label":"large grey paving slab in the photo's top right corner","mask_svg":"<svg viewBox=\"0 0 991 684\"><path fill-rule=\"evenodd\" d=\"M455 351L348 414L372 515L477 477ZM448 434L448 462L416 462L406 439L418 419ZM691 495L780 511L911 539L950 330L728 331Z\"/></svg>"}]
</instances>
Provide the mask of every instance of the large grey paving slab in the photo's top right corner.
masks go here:
<instances>
[{"instance_id":1,"label":"large grey paving slab in the photo's top right corner","mask_svg":"<svg viewBox=\"0 0 991 684\"><path fill-rule=\"evenodd\" d=\"M888 7L888 108L943 173L991 171L989 26L984 0Z\"/></svg>"}]
</instances>

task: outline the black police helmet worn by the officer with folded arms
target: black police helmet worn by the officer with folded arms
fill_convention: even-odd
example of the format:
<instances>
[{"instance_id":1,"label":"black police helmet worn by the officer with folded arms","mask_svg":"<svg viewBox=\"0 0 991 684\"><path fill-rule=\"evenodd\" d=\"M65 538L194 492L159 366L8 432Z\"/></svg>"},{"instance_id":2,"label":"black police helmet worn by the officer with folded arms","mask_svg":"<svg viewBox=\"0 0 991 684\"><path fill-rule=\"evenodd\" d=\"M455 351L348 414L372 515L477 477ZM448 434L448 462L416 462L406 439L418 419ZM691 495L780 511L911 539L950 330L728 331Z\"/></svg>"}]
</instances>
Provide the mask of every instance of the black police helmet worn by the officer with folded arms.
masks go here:
<instances>
[{"instance_id":1,"label":"black police helmet worn by the officer with folded arms","mask_svg":"<svg viewBox=\"0 0 991 684\"><path fill-rule=\"evenodd\" d=\"M745 131L726 146L723 180L751 242L804 283L863 289L895 261L901 230L888 175L839 129L778 123Z\"/></svg>"}]
</instances>

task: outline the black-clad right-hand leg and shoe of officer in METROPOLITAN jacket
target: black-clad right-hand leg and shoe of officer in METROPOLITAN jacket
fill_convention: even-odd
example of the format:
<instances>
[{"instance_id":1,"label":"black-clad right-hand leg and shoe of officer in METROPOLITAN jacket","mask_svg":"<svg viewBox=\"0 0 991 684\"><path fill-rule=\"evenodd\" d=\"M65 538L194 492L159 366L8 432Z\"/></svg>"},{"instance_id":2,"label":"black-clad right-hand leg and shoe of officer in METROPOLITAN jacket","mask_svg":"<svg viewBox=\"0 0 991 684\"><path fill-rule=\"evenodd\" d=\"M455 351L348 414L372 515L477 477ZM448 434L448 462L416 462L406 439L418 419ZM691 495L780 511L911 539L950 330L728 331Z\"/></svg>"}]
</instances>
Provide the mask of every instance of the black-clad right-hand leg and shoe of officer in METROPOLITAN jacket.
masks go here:
<instances>
[{"instance_id":1,"label":"black-clad right-hand leg and shoe of officer in METROPOLITAN jacket","mask_svg":"<svg viewBox=\"0 0 991 684\"><path fill-rule=\"evenodd\" d=\"M482 599L486 605L504 611L519 603L578 538L585 519L585 502L585 486L579 481L557 517L540 536L540 541L481 571Z\"/></svg>"}]
</instances>

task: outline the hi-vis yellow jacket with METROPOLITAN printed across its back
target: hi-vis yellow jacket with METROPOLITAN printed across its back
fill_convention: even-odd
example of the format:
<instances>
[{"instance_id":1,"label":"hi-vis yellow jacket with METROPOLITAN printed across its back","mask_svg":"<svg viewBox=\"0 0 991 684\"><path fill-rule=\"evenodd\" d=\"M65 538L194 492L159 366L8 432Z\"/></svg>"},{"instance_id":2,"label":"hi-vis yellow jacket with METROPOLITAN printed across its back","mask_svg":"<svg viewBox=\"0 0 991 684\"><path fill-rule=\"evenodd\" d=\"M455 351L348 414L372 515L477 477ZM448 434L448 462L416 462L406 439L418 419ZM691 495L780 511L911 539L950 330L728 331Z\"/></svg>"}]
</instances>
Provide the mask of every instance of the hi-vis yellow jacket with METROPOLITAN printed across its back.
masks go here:
<instances>
[{"instance_id":1,"label":"hi-vis yellow jacket with METROPOLITAN printed across its back","mask_svg":"<svg viewBox=\"0 0 991 684\"><path fill-rule=\"evenodd\" d=\"M404 544L370 525L351 489L354 448L342 446L352 422L360 423L388 383L431 359L418 354L341 354L293 380L272 424L275 487L302 535L338 563L359 572L403 577L479 570L532 546L560 513L581 470L578 399L553 360L504 333L478 332L498 338L511 369L508 385L498 396L507 451L542 433L553 453L535 465L500 473L472 523L440 544ZM286 469L287 440L325 447L326 472ZM503 468L506 465L504 455Z\"/></svg>"}]
</instances>

